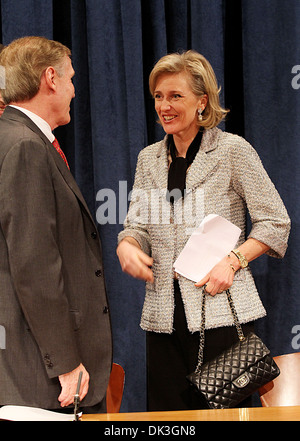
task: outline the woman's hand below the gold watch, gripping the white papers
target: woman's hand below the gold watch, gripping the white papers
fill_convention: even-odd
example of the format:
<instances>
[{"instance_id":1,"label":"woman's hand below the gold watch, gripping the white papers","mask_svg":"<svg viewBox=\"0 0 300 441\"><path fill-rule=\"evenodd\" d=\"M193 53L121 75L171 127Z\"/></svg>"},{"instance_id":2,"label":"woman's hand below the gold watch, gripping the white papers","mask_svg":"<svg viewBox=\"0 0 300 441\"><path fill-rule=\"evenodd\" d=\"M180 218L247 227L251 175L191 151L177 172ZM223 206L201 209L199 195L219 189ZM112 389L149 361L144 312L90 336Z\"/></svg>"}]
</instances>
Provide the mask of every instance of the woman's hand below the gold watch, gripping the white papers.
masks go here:
<instances>
[{"instance_id":1,"label":"woman's hand below the gold watch, gripping the white papers","mask_svg":"<svg viewBox=\"0 0 300 441\"><path fill-rule=\"evenodd\" d=\"M233 278L234 271L230 266L229 258L226 256L202 280L195 283L195 286L201 287L206 284L205 291L215 296L230 288Z\"/></svg>"}]
</instances>

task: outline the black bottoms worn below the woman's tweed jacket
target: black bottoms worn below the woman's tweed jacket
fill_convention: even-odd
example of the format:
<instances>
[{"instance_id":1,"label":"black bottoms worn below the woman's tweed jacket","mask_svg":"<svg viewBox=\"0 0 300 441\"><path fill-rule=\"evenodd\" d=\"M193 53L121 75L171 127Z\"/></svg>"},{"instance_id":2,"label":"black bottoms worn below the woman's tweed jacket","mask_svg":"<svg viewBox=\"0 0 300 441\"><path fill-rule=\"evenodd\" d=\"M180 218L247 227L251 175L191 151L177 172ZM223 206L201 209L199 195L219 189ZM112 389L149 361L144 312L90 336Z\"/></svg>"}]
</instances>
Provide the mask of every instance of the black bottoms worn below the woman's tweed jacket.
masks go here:
<instances>
[{"instance_id":1,"label":"black bottoms worn below the woman's tweed jacket","mask_svg":"<svg viewBox=\"0 0 300 441\"><path fill-rule=\"evenodd\" d=\"M199 332L190 333L179 284L174 281L175 311L172 334L147 332L148 411L204 409L205 403L189 385L186 376L197 365ZM245 334L253 322L242 325ZM235 326L205 331L203 362L211 360L238 341ZM240 404L251 407L251 397Z\"/></svg>"}]
</instances>

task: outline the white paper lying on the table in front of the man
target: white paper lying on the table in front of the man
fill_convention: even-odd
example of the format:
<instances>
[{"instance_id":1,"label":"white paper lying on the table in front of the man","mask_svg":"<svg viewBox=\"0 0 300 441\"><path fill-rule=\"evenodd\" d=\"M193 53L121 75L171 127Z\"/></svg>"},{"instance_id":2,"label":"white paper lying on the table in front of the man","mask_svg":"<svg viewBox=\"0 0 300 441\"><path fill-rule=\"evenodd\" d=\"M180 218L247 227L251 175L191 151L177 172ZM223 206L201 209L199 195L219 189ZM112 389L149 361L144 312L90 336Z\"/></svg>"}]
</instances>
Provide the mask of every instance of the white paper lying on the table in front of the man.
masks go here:
<instances>
[{"instance_id":1,"label":"white paper lying on the table in front of the man","mask_svg":"<svg viewBox=\"0 0 300 441\"><path fill-rule=\"evenodd\" d=\"M9 421L74 421L74 414L52 412L28 406L3 406L0 419Z\"/></svg>"}]
</instances>

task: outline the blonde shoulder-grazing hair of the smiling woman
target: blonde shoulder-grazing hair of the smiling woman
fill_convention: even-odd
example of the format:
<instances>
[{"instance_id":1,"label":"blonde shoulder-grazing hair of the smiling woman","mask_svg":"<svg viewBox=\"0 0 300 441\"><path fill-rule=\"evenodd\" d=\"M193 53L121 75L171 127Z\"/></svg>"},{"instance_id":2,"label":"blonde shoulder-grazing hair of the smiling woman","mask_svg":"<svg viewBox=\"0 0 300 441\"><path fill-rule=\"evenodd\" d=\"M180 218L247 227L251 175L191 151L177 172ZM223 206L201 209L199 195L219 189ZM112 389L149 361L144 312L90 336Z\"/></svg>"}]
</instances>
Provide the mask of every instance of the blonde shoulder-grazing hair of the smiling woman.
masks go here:
<instances>
[{"instance_id":1,"label":"blonde shoulder-grazing hair of the smiling woman","mask_svg":"<svg viewBox=\"0 0 300 441\"><path fill-rule=\"evenodd\" d=\"M227 115L229 110L220 105L220 91L217 79L211 64L207 59L194 50L183 53L173 53L162 57L152 69L149 76L149 88L154 97L158 78L166 73L177 74L186 72L191 90L197 97L207 95L207 106L202 114L202 121L198 125L211 129L216 127Z\"/></svg>"}]
</instances>

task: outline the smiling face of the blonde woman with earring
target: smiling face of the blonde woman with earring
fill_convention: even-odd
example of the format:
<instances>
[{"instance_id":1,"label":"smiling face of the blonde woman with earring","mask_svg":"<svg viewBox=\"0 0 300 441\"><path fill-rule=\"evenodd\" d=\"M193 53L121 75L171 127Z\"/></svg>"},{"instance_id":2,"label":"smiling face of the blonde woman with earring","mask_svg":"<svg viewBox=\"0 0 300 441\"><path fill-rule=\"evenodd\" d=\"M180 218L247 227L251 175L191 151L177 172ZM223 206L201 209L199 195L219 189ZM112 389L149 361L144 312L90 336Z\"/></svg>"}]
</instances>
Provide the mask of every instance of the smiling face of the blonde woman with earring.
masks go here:
<instances>
[{"instance_id":1,"label":"smiling face of the blonde woman with earring","mask_svg":"<svg viewBox=\"0 0 300 441\"><path fill-rule=\"evenodd\" d=\"M198 109L205 108L204 97L199 99L192 92L185 72L159 76L154 91L155 110L164 131L185 139L194 138L199 130Z\"/></svg>"}]
</instances>

